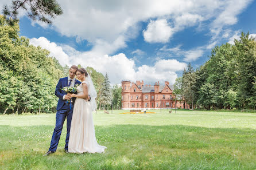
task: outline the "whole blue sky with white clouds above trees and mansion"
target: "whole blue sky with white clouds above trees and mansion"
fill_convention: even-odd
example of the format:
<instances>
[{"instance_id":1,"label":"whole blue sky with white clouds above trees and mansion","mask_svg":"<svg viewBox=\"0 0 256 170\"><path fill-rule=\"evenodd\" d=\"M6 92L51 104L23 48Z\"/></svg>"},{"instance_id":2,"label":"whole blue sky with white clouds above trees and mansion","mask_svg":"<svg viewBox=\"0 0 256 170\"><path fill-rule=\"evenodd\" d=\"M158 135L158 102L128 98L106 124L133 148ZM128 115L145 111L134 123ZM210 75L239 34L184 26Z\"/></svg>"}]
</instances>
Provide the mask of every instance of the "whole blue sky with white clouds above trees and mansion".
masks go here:
<instances>
[{"instance_id":1,"label":"whole blue sky with white clouds above trees and mansion","mask_svg":"<svg viewBox=\"0 0 256 170\"><path fill-rule=\"evenodd\" d=\"M8 4L3 0L0 5ZM20 14L20 34L48 49L61 65L92 66L112 84L173 84L191 62L198 68L216 45L241 31L256 33L251 0L59 1L64 14L48 26Z\"/></svg>"}]
</instances>

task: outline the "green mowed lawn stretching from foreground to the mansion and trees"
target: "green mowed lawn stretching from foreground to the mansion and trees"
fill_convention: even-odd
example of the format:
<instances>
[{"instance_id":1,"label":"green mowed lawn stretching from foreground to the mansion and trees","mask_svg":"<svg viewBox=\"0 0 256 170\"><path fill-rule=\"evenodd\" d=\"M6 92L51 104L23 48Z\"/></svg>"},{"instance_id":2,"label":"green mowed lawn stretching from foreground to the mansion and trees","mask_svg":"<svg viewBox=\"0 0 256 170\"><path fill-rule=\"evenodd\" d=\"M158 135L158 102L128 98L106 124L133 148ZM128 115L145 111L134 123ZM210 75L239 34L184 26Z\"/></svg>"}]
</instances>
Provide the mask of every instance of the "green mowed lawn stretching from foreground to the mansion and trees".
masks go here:
<instances>
[{"instance_id":1,"label":"green mowed lawn stretching from foreground to the mansion and trees","mask_svg":"<svg viewBox=\"0 0 256 170\"><path fill-rule=\"evenodd\" d=\"M150 110L94 113L105 153L65 153L64 125L48 151L56 114L0 116L0 169L256 169L256 113Z\"/></svg>"}]
</instances>

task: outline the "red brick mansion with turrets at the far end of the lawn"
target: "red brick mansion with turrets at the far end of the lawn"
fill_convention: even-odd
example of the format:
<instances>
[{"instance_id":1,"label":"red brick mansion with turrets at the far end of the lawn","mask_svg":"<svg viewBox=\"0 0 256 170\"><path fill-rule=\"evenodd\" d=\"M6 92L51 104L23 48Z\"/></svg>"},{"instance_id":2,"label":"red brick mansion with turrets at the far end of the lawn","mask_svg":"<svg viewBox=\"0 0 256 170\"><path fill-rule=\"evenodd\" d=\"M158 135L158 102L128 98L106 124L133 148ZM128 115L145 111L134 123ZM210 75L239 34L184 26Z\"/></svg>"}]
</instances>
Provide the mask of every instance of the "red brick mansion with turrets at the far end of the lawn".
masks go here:
<instances>
[{"instance_id":1,"label":"red brick mansion with turrets at the far end of the lawn","mask_svg":"<svg viewBox=\"0 0 256 170\"><path fill-rule=\"evenodd\" d=\"M173 85L165 81L160 85L159 81L152 85L144 85L144 82L122 80L122 109L174 109L175 96L172 93ZM177 108L189 108L187 104L176 101Z\"/></svg>"}]
</instances>

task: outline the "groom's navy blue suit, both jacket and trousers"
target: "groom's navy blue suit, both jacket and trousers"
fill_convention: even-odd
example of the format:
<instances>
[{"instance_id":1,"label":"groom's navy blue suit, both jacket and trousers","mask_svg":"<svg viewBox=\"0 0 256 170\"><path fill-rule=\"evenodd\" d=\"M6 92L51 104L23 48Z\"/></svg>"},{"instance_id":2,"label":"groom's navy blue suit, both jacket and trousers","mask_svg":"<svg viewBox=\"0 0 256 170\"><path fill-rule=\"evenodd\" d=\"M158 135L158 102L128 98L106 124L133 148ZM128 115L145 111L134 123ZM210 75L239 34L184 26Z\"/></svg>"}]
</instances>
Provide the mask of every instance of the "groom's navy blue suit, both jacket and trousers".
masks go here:
<instances>
[{"instance_id":1,"label":"groom's navy blue suit, both jacket and trousers","mask_svg":"<svg viewBox=\"0 0 256 170\"><path fill-rule=\"evenodd\" d=\"M75 85L80 84L81 82L75 79ZM68 149L68 140L69 140L69 132L70 132L70 126L71 126L71 120L72 120L72 114L73 109L69 108L69 104L67 105L67 100L63 100L63 96L67 94L64 92L63 89L65 86L68 86L68 77L60 78L58 84L56 85L55 89L55 95L59 97L59 101L57 104L57 112L56 112L56 125L55 129L52 134L52 141L51 141L51 147L49 148L49 151L55 152L57 149L57 146L59 144L61 131L63 128L64 121L67 117L67 137L66 137L66 144L65 144L65 150ZM75 103L76 98L72 98L73 103ZM73 108L73 107L72 107Z\"/></svg>"}]
</instances>

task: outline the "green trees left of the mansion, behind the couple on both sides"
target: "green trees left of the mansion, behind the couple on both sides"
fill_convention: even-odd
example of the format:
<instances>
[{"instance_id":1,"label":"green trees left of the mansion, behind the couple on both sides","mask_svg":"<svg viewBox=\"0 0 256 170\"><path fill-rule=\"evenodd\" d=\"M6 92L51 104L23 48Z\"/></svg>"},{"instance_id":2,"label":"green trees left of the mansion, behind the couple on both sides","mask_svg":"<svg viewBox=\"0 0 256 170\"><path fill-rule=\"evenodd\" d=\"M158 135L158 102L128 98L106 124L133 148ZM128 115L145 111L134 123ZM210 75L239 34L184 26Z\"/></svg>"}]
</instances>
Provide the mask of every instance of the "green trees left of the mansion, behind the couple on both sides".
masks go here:
<instances>
[{"instance_id":1,"label":"green trees left of the mansion, behind the couple on both sides","mask_svg":"<svg viewBox=\"0 0 256 170\"><path fill-rule=\"evenodd\" d=\"M69 67L61 66L48 50L30 45L29 38L21 37L19 31L18 22L10 25L0 15L0 113L55 112L56 84L68 75ZM120 108L121 87L111 88L107 74L86 69L98 92L99 109L109 108L111 103L114 109Z\"/></svg>"}]
</instances>

